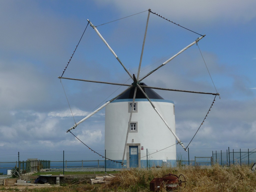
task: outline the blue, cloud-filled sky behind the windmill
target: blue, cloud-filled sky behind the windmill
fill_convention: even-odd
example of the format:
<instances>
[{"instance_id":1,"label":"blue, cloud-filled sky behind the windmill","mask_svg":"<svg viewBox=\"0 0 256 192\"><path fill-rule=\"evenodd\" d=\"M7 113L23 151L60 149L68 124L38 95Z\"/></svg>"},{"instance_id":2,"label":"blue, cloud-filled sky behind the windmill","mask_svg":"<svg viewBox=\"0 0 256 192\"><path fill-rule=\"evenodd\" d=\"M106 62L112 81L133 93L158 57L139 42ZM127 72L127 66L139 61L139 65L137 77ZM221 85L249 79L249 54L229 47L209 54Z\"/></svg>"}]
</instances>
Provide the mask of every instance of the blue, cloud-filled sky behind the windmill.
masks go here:
<instances>
[{"instance_id":1,"label":"blue, cloud-filled sky behind the windmill","mask_svg":"<svg viewBox=\"0 0 256 192\"><path fill-rule=\"evenodd\" d=\"M63 77L131 84L87 19L136 74L149 8L191 31L151 13L140 77L206 34L143 80L220 93L189 148L255 148L255 7L251 0L0 1L0 154L86 150L66 131L125 87L58 77L74 53ZM176 134L187 146L214 95L156 92L174 101ZM72 133L104 150L104 109Z\"/></svg>"}]
</instances>

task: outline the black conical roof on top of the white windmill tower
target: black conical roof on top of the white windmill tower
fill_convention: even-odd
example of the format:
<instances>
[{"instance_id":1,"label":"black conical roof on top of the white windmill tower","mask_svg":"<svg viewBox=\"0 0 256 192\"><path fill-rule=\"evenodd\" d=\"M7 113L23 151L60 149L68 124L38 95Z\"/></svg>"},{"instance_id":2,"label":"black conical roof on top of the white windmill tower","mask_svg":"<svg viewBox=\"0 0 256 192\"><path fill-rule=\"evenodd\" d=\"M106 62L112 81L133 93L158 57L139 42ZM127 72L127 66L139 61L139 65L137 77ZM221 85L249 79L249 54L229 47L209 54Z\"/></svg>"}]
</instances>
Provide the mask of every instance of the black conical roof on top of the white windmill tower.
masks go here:
<instances>
[{"instance_id":1,"label":"black conical roof on top of the white windmill tower","mask_svg":"<svg viewBox=\"0 0 256 192\"><path fill-rule=\"evenodd\" d=\"M140 85L142 86L147 86L145 83L140 83ZM145 91L145 93L147 94L147 96L150 99L164 99L162 98L160 95L158 95L154 90L150 89L150 88L145 88L142 87L142 89ZM134 90L135 87L131 88L130 90L127 90L126 92L124 92L122 95L120 95L117 99L133 99L133 95L134 95ZM146 99L145 95L141 92L140 89L137 89L136 92L136 97L135 99Z\"/></svg>"}]
</instances>

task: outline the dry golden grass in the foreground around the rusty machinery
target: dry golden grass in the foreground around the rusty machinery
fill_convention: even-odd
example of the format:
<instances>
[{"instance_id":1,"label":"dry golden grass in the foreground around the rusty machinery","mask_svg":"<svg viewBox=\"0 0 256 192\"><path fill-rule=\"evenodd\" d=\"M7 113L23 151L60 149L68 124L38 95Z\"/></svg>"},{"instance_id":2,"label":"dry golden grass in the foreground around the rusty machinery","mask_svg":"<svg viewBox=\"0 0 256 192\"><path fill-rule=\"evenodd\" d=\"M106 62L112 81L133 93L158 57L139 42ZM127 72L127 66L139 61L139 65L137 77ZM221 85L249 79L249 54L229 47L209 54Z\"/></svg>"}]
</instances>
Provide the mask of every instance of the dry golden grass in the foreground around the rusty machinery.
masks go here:
<instances>
[{"instance_id":1,"label":"dry golden grass in the foreground around the rusty machinery","mask_svg":"<svg viewBox=\"0 0 256 192\"><path fill-rule=\"evenodd\" d=\"M184 175L186 187L176 191L183 192L229 192L229 191L255 191L256 192L256 173L252 173L248 166L239 165L221 167L173 167L173 168L151 168L123 170L116 174L110 184L79 184L45 189L28 189L26 191L36 192L82 192L82 191L113 191L113 192L148 192L150 191L150 181L155 177L163 177L168 173ZM1 188L0 188L1 191ZM161 190L166 192L165 189Z\"/></svg>"}]
</instances>

